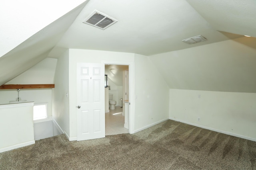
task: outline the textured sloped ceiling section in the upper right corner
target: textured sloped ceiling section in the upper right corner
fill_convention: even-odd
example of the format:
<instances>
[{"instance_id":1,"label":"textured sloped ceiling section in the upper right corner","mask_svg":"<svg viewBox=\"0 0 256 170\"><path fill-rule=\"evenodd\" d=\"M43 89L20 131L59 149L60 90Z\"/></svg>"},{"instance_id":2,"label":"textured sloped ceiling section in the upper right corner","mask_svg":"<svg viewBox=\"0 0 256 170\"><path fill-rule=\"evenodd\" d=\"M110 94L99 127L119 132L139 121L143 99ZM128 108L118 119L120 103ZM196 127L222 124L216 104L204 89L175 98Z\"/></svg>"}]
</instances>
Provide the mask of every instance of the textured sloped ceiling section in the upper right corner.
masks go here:
<instances>
[{"instance_id":1,"label":"textured sloped ceiling section in the upper right corner","mask_svg":"<svg viewBox=\"0 0 256 170\"><path fill-rule=\"evenodd\" d=\"M187 0L218 31L256 37L255 0Z\"/></svg>"}]
</instances>

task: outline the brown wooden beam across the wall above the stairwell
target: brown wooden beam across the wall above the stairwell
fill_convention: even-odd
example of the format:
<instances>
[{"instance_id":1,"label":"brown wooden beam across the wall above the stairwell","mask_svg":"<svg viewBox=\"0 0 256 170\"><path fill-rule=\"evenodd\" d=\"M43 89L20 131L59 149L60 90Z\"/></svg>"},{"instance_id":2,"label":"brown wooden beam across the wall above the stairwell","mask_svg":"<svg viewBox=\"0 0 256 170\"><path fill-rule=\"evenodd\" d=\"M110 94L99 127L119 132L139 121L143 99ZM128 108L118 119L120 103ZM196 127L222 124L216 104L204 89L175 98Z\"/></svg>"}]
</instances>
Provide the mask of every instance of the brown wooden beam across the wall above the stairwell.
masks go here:
<instances>
[{"instance_id":1,"label":"brown wooden beam across the wall above the stairwell","mask_svg":"<svg viewBox=\"0 0 256 170\"><path fill-rule=\"evenodd\" d=\"M54 84L3 84L0 89L54 88Z\"/></svg>"}]
</instances>

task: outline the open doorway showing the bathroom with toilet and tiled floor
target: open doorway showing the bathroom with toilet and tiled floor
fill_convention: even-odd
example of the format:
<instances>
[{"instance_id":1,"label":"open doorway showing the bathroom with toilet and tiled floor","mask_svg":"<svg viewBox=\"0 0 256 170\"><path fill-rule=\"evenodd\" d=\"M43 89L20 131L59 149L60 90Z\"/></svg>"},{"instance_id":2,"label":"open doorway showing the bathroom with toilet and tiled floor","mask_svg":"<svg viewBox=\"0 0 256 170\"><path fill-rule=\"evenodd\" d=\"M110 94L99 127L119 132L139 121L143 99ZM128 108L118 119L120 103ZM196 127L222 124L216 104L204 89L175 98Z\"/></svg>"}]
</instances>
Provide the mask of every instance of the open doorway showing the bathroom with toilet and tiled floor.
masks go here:
<instances>
[{"instance_id":1,"label":"open doorway showing the bathroom with toilet and tiled floor","mask_svg":"<svg viewBox=\"0 0 256 170\"><path fill-rule=\"evenodd\" d=\"M129 65L105 64L105 74L106 135L129 133L128 113L126 111L126 115L124 114L123 101L128 102L129 99Z\"/></svg>"}]
</instances>

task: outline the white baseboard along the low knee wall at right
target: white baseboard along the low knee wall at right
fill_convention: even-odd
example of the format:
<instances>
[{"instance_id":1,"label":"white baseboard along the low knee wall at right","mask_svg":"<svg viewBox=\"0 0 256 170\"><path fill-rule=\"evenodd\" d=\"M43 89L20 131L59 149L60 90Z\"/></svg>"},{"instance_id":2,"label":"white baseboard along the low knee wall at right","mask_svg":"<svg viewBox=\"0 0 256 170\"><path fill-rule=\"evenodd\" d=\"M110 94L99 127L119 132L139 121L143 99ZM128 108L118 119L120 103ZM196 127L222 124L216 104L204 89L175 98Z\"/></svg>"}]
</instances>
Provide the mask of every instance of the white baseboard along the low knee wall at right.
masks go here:
<instances>
[{"instance_id":1,"label":"white baseboard along the low knee wall at right","mask_svg":"<svg viewBox=\"0 0 256 170\"><path fill-rule=\"evenodd\" d=\"M190 122L187 122L187 121L182 121L182 120L179 120L179 119L174 119L174 118L169 118L170 120L174 120L174 121L179 121L179 122L182 122L182 123L186 123L188 125L193 125L193 126L196 126L196 127L201 127L203 129L208 129L210 131L215 131L215 132L219 132L219 133L224 133L226 135L231 135L231 136L234 136L234 137L240 137L242 139L247 139L247 140L250 140L250 141L254 141L256 142L256 139L255 138L252 138L252 137L246 137L246 136L243 136L243 135L239 135L239 134L236 134L236 133L230 133L230 132L226 132L226 131L222 131L222 130L219 130L219 129L214 129L214 128L211 128L211 127L206 127L206 126L202 126L202 125L197 125L195 123L190 123Z\"/></svg>"}]
</instances>

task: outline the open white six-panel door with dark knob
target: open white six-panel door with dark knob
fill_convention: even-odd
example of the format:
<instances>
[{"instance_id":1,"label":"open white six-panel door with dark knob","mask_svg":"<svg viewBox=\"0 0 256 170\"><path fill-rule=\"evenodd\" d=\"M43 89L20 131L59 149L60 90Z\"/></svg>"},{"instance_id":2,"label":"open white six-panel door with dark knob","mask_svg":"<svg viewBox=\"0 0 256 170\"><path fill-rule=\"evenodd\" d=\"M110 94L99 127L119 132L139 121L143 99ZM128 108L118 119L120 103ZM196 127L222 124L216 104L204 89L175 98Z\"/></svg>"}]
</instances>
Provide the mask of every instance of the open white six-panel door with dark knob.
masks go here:
<instances>
[{"instance_id":1,"label":"open white six-panel door with dark knob","mask_svg":"<svg viewBox=\"0 0 256 170\"><path fill-rule=\"evenodd\" d=\"M104 64L77 63L77 140L105 137Z\"/></svg>"}]
</instances>

